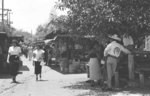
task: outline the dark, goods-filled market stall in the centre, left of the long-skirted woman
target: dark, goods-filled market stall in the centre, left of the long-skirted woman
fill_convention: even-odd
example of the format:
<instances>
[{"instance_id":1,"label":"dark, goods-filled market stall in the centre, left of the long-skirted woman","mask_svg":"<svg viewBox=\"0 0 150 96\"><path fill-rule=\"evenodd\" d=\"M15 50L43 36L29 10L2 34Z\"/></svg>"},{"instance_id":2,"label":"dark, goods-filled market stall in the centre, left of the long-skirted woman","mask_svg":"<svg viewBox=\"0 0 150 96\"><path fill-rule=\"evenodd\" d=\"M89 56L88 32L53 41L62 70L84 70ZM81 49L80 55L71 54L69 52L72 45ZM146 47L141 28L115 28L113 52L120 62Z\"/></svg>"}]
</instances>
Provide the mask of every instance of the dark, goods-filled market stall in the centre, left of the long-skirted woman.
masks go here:
<instances>
[{"instance_id":1,"label":"dark, goods-filled market stall in the centre, left of the long-skirted woman","mask_svg":"<svg viewBox=\"0 0 150 96\"><path fill-rule=\"evenodd\" d=\"M88 54L89 46L91 45L90 39L76 35L58 35L55 44L57 46L56 49L58 49L57 57L60 60L60 63L61 58L64 57L64 53L67 54L68 68L65 68L67 72L79 73L86 71L85 65L88 62L86 55Z\"/></svg>"}]
</instances>

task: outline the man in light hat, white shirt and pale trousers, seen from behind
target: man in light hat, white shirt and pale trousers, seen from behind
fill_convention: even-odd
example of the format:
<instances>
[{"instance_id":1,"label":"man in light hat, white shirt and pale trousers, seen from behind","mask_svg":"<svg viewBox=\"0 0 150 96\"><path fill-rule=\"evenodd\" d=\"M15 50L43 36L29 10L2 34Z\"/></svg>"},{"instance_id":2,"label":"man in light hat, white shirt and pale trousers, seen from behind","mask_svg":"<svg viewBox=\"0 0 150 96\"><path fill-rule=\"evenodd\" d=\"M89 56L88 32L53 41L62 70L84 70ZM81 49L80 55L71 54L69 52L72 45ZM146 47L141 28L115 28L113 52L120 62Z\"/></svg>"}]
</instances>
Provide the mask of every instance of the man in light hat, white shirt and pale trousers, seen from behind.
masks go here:
<instances>
[{"instance_id":1,"label":"man in light hat, white shirt and pale trousers, seen from behind","mask_svg":"<svg viewBox=\"0 0 150 96\"><path fill-rule=\"evenodd\" d=\"M108 84L108 90L112 90L112 77L115 74L117 63L119 60L119 56L121 52L124 52L126 54L130 54L130 51L126 49L120 42L121 39L118 37L118 35L112 35L109 36L111 39L111 43L109 43L105 50L104 50L104 56L107 57L106 64L107 64L107 84Z\"/></svg>"}]
</instances>

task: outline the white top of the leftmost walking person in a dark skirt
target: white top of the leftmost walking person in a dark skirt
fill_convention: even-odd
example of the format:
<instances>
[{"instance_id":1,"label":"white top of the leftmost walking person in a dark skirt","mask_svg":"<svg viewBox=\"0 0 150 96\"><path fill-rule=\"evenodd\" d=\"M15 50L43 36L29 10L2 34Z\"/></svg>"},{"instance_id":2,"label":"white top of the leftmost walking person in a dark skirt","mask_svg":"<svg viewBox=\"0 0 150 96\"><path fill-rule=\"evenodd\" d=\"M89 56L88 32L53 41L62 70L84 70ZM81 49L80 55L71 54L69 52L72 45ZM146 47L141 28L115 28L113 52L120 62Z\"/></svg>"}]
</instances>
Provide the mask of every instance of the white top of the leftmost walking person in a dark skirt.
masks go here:
<instances>
[{"instance_id":1,"label":"white top of the leftmost walking person in a dark skirt","mask_svg":"<svg viewBox=\"0 0 150 96\"><path fill-rule=\"evenodd\" d=\"M21 48L19 46L10 46L8 53L10 55L19 55L21 53Z\"/></svg>"}]
</instances>

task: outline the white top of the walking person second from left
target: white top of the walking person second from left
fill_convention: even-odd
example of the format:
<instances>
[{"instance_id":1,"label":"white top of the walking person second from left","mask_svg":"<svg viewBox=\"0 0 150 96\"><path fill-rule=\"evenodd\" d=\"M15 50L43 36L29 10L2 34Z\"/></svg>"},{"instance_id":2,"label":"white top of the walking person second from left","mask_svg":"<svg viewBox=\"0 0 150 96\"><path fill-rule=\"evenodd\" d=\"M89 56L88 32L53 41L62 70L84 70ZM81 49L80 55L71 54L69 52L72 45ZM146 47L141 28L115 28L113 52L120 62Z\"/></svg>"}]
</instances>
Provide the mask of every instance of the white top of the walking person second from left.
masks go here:
<instances>
[{"instance_id":1,"label":"white top of the walking person second from left","mask_svg":"<svg viewBox=\"0 0 150 96\"><path fill-rule=\"evenodd\" d=\"M45 53L44 50L34 50L33 54L35 54L35 57L33 58L34 61L42 61L43 60L43 54Z\"/></svg>"}]
</instances>

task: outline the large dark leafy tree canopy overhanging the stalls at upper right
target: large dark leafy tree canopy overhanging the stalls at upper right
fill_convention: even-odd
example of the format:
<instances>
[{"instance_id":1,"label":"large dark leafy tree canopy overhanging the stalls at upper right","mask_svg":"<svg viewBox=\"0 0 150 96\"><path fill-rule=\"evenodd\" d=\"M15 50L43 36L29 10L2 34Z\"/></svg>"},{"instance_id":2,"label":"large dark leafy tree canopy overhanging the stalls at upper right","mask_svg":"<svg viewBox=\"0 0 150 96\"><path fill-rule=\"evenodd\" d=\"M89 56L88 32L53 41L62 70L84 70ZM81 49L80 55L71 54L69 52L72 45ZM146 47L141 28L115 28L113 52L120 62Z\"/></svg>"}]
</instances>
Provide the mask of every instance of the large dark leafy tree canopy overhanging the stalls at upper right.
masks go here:
<instances>
[{"instance_id":1,"label":"large dark leafy tree canopy overhanging the stalls at upper right","mask_svg":"<svg viewBox=\"0 0 150 96\"><path fill-rule=\"evenodd\" d=\"M59 0L69 9L66 23L78 34L129 33L137 38L150 30L149 0Z\"/></svg>"}]
</instances>

